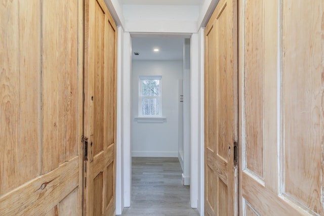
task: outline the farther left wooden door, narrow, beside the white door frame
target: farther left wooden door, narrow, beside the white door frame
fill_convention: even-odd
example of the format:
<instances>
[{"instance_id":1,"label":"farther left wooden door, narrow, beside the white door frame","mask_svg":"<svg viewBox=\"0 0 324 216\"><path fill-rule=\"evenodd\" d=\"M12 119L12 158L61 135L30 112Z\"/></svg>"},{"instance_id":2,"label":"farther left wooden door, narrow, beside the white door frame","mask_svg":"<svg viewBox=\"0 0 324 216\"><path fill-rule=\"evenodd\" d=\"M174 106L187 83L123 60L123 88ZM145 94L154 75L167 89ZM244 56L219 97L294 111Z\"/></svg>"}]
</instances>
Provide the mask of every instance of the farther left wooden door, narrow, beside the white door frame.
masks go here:
<instances>
[{"instance_id":1,"label":"farther left wooden door, narrow, beside the white door frame","mask_svg":"<svg viewBox=\"0 0 324 216\"><path fill-rule=\"evenodd\" d=\"M87 0L84 215L115 215L116 33L104 1Z\"/></svg>"}]
</instances>

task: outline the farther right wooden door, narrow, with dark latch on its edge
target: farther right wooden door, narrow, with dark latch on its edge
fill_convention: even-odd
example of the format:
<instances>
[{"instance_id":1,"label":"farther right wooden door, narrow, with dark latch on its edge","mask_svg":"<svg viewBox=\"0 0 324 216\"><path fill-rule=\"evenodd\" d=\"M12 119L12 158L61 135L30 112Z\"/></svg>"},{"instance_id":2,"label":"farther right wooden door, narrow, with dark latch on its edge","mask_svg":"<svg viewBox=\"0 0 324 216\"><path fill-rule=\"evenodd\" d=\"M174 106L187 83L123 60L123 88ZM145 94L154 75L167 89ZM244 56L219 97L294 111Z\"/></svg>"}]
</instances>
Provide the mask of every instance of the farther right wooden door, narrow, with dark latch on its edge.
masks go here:
<instances>
[{"instance_id":1,"label":"farther right wooden door, narrow, with dark latch on its edge","mask_svg":"<svg viewBox=\"0 0 324 216\"><path fill-rule=\"evenodd\" d=\"M238 212L236 14L221 0L205 28L205 215Z\"/></svg>"}]
</instances>

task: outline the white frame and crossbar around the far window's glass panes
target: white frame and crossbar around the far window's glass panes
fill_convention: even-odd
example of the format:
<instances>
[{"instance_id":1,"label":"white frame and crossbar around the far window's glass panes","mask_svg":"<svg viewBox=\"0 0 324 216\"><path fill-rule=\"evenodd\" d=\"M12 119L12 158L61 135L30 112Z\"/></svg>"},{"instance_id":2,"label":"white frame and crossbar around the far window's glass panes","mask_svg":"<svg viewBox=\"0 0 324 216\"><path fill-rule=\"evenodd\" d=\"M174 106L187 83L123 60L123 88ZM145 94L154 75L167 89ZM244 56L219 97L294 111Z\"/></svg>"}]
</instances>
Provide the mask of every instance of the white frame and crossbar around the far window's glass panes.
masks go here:
<instances>
[{"instance_id":1,"label":"white frame and crossbar around the far window's glass panes","mask_svg":"<svg viewBox=\"0 0 324 216\"><path fill-rule=\"evenodd\" d=\"M158 96L143 96L142 95L142 80L150 79L150 80L159 80L159 89ZM143 98L159 98L159 114L158 115L143 115L142 113L142 99ZM162 76L139 76L138 79L138 116L140 118L159 118L162 116Z\"/></svg>"}]
</instances>

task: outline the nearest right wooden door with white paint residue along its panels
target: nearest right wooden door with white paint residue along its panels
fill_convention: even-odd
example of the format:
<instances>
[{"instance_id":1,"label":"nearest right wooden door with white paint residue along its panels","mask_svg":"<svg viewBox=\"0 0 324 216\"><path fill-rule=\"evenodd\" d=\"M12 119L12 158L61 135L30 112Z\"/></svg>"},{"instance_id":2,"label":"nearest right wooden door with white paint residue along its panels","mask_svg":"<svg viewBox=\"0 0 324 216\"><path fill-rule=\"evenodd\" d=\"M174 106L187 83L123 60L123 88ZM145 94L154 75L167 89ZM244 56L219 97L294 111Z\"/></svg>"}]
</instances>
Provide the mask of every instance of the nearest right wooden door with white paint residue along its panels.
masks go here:
<instances>
[{"instance_id":1,"label":"nearest right wooden door with white paint residue along its panels","mask_svg":"<svg viewBox=\"0 0 324 216\"><path fill-rule=\"evenodd\" d=\"M242 215L324 215L324 1L239 1Z\"/></svg>"}]
</instances>

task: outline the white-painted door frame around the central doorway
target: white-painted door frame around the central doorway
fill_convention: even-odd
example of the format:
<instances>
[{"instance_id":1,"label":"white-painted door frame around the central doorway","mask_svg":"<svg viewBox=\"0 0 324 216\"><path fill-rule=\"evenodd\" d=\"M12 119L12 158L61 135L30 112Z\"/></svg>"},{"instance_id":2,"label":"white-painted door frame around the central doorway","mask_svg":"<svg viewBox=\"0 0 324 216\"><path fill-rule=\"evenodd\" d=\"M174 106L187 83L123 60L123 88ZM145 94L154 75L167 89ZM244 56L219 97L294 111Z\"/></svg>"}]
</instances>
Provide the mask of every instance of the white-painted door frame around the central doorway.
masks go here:
<instances>
[{"instance_id":1,"label":"white-painted door frame around the central doorway","mask_svg":"<svg viewBox=\"0 0 324 216\"><path fill-rule=\"evenodd\" d=\"M122 29L119 29L123 31ZM123 34L123 38L120 38L118 44L121 42L123 45L118 46L118 52L122 52L121 62L119 66L119 76L121 79L120 91L117 91L118 98L120 98L120 122L121 124L120 131L117 132L117 138L120 138L120 141L117 141L117 172L119 173L116 176L117 187L119 186L120 190L117 190L116 198L116 213L123 210L124 207L129 207L131 204L131 184L132 184L132 164L131 164L131 62L132 62L132 42L131 34L132 32L118 32L118 34ZM142 32L141 34L149 34L149 32ZM155 32L155 35L166 35L163 32ZM190 137L189 137L189 148L190 148L190 206L192 208L201 207L201 197L204 200L204 193L199 194L198 197L198 188L200 190L201 184L204 187L204 181L201 181L201 176L204 176L204 169L201 170L201 164L204 165L204 157L201 157L201 136L204 137L204 131L201 131L201 123L204 124L204 121L201 121L201 88L204 92L204 86L201 86L201 82L197 80L201 79L201 63L199 60L201 58L201 48L199 49L199 40L201 40L198 33L170 33L171 36L181 36L190 38ZM200 58L199 58L200 56ZM204 66L204 63L202 63ZM200 66L200 67L199 67ZM200 74L199 74L200 73ZM204 82L204 80L203 80ZM118 118L118 117L117 117ZM118 126L117 126L118 128ZM202 135L201 135L202 133ZM118 145L119 144L119 145ZM203 152L204 154L204 152ZM118 159L120 157L120 159ZM119 163L118 163L119 161ZM198 161L198 163L197 163ZM123 177L123 178L121 178ZM204 177L203 177L204 178ZM200 183L200 184L199 184ZM117 188L118 189L118 188ZM119 202L118 202L119 201ZM203 206L202 206L203 207ZM119 209L117 209L119 208Z\"/></svg>"}]
</instances>

